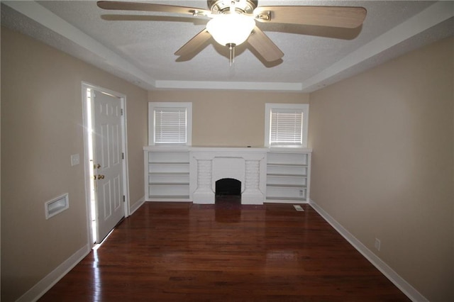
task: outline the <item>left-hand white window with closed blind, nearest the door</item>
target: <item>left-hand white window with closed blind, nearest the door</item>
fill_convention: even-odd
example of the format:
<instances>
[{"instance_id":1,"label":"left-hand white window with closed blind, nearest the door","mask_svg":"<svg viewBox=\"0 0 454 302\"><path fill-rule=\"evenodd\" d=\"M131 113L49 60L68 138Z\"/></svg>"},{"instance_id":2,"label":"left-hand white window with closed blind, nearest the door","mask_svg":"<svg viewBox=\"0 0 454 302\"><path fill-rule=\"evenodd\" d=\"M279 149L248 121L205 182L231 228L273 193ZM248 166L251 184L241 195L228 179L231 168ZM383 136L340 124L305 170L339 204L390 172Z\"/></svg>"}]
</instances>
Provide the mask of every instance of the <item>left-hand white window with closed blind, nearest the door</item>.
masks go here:
<instances>
[{"instance_id":1,"label":"left-hand white window with closed blind, nearest the door","mask_svg":"<svg viewBox=\"0 0 454 302\"><path fill-rule=\"evenodd\" d=\"M191 145L192 103L148 104L148 145Z\"/></svg>"}]
</instances>

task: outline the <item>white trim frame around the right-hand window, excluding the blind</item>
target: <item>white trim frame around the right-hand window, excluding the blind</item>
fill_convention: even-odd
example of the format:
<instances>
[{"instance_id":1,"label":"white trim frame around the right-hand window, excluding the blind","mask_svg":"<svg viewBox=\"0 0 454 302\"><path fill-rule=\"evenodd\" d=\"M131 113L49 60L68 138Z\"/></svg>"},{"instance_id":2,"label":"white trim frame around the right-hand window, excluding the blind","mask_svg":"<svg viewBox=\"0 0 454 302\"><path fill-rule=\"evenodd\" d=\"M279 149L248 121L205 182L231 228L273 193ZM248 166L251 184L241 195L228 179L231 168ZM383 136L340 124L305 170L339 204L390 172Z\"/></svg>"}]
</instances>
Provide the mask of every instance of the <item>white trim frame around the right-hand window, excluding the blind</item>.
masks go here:
<instances>
[{"instance_id":1,"label":"white trim frame around the right-hand window, excluding the blind","mask_svg":"<svg viewBox=\"0 0 454 302\"><path fill-rule=\"evenodd\" d=\"M270 145L270 130L271 130L271 111L272 109L297 109L303 112L303 129L301 133L301 145ZM265 147L288 147L288 148L306 148L307 147L307 136L309 127L309 104L265 104Z\"/></svg>"}]
</instances>

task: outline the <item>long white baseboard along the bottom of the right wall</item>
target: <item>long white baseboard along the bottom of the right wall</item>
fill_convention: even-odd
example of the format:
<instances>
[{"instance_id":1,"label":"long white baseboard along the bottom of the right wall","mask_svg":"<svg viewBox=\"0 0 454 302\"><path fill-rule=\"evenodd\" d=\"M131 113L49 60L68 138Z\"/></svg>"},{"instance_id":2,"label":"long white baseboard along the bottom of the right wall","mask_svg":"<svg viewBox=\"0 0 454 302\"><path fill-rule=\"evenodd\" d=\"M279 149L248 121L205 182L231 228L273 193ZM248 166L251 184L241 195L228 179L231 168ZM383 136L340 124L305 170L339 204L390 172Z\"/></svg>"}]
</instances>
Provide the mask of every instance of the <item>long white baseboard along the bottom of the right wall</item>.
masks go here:
<instances>
[{"instance_id":1,"label":"long white baseboard along the bottom of the right wall","mask_svg":"<svg viewBox=\"0 0 454 302\"><path fill-rule=\"evenodd\" d=\"M372 263L384 276L392 281L392 283L397 286L398 289L402 291L407 297L414 302L428 302L427 298L421 295L413 286L411 286L407 281L405 281L399 274L394 272L394 270L388 266L382 259L377 257L371 250L369 250L365 245L363 245L360 240L356 239L348 230L343 228L343 226L338 223L333 217L326 213L323 208L321 208L315 201L310 200L309 205L317 211L323 219L326 220L339 234L341 234L345 240L350 242L350 245L353 245L358 252L362 254L370 263Z\"/></svg>"}]
</instances>

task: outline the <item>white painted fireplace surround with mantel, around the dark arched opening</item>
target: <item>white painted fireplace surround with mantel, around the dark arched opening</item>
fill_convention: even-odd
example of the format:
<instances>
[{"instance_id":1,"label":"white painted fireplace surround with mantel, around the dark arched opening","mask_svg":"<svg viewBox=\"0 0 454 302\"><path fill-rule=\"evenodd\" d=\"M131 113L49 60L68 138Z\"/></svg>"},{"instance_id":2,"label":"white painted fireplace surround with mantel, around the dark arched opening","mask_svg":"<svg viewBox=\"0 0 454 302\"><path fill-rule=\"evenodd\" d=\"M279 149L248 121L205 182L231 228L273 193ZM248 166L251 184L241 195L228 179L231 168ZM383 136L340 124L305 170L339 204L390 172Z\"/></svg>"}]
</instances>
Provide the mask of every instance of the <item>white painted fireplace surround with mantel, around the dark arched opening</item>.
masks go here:
<instances>
[{"instance_id":1,"label":"white painted fireplace surround with mantel, around the dark arched opening","mask_svg":"<svg viewBox=\"0 0 454 302\"><path fill-rule=\"evenodd\" d=\"M267 149L192 147L189 156L193 203L214 203L221 179L239 181L242 204L265 201Z\"/></svg>"}]
</instances>

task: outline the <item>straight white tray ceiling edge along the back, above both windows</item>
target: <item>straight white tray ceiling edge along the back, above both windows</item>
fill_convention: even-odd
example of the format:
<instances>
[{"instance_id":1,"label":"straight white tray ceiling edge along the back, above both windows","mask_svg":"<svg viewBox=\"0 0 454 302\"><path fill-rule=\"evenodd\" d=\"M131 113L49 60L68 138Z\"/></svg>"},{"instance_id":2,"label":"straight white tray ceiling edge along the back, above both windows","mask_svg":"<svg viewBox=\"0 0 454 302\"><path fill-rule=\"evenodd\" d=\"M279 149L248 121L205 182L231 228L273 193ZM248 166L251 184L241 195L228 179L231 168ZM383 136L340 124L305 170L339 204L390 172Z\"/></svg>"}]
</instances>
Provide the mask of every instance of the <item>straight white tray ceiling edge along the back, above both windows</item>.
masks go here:
<instances>
[{"instance_id":1,"label":"straight white tray ceiling edge along the back, above both windows","mask_svg":"<svg viewBox=\"0 0 454 302\"><path fill-rule=\"evenodd\" d=\"M301 91L301 83L275 82L210 82L210 81L161 81L155 82L158 89L207 89L207 90L260 90Z\"/></svg>"}]
</instances>

